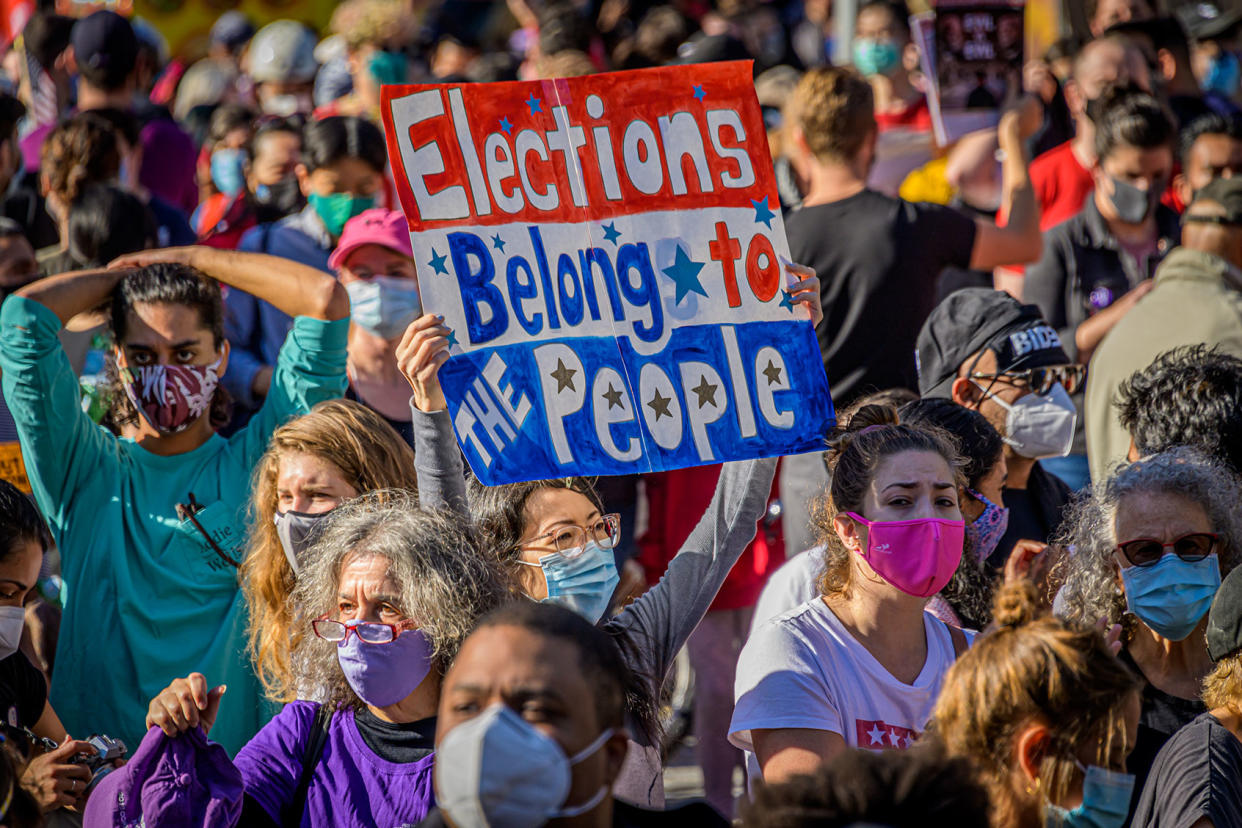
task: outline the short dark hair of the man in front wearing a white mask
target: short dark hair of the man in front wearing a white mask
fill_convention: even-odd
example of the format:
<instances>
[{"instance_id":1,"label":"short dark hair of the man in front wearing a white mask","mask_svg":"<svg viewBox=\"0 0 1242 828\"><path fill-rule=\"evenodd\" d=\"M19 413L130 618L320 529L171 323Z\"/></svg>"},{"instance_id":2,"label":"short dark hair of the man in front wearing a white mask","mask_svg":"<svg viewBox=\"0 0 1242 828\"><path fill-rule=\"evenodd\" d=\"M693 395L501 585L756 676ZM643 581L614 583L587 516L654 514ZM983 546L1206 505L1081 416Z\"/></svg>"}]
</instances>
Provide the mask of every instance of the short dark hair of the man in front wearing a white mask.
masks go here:
<instances>
[{"instance_id":1,"label":"short dark hair of the man in front wearing a white mask","mask_svg":"<svg viewBox=\"0 0 1242 828\"><path fill-rule=\"evenodd\" d=\"M616 642L602 629L571 610L534 601L512 601L493 610L476 629L486 627L517 627L573 644L582 678L591 686L600 725L617 727L625 722L626 688L633 679Z\"/></svg>"}]
</instances>

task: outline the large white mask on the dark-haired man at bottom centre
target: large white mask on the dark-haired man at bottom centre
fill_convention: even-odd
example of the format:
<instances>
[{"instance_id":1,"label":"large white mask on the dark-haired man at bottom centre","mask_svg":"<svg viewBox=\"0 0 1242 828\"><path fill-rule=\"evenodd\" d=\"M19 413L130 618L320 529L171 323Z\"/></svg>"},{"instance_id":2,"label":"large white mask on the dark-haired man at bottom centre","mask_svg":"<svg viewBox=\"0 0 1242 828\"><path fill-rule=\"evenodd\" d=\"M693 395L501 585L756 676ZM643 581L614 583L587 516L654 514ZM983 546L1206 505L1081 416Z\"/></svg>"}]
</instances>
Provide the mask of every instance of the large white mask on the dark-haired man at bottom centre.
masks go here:
<instances>
[{"instance_id":1,"label":"large white mask on the dark-haired man at bottom centre","mask_svg":"<svg viewBox=\"0 0 1242 828\"><path fill-rule=\"evenodd\" d=\"M551 737L503 704L457 725L436 750L436 804L458 828L535 828L549 819L576 817L607 796L600 787L586 802L565 806L573 766L612 736L565 756Z\"/></svg>"}]
</instances>

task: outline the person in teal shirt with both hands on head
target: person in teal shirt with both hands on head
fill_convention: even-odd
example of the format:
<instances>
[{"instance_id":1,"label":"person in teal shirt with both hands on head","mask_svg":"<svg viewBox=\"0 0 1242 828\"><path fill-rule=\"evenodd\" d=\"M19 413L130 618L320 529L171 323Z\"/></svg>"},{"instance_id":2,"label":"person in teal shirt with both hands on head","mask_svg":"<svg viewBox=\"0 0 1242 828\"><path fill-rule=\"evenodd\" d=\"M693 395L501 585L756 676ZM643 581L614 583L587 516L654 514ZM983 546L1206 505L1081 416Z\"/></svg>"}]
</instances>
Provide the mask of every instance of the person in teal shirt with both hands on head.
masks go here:
<instances>
[{"instance_id":1,"label":"person in teal shirt with both hands on head","mask_svg":"<svg viewBox=\"0 0 1242 828\"><path fill-rule=\"evenodd\" d=\"M212 427L229 366L212 279L294 317L262 410L229 439ZM106 421L119 436L83 413L57 339L109 303L119 392ZM251 472L279 425L345 390L348 329L332 276L205 247L41 279L0 307L4 396L67 586L50 695L68 732L137 747L148 700L191 672L227 685L211 736L230 754L276 713L246 653L236 571Z\"/></svg>"}]
</instances>

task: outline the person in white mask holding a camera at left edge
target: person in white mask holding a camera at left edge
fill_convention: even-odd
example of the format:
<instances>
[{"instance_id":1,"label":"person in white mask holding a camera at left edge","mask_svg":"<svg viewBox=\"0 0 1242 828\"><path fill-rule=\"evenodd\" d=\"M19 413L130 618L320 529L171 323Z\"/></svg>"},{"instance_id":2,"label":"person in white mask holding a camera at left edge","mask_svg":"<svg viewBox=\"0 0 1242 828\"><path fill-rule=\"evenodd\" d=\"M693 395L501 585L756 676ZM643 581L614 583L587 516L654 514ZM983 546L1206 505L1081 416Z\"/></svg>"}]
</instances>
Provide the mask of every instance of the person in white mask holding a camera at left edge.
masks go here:
<instances>
[{"instance_id":1,"label":"person in white mask holding a camera at left edge","mask_svg":"<svg viewBox=\"0 0 1242 828\"><path fill-rule=\"evenodd\" d=\"M78 807L86 798L91 771L73 762L94 754L89 744L70 739L47 701L43 674L19 649L25 627L26 596L39 580L51 534L30 498L0 480L0 719L7 740L51 740L55 750L34 755L21 773L21 787L45 812ZM2 726L0 726L2 727Z\"/></svg>"}]
</instances>

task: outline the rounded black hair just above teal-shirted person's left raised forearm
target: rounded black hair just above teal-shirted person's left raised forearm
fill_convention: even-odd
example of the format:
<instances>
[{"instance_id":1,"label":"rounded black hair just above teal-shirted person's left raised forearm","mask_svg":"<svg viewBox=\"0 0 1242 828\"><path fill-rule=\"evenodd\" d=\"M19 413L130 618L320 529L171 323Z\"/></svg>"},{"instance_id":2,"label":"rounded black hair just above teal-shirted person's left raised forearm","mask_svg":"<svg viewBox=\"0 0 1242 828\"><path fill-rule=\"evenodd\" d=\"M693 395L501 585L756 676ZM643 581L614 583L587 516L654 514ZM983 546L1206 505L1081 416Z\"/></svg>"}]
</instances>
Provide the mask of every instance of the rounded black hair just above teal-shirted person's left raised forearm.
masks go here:
<instances>
[{"instance_id":1,"label":"rounded black hair just above teal-shirted person's left raised forearm","mask_svg":"<svg viewBox=\"0 0 1242 828\"><path fill-rule=\"evenodd\" d=\"M137 196L108 184L87 184L70 205L67 252L78 269L154 247L155 217Z\"/></svg>"}]
</instances>

